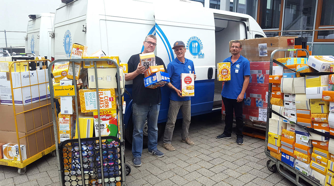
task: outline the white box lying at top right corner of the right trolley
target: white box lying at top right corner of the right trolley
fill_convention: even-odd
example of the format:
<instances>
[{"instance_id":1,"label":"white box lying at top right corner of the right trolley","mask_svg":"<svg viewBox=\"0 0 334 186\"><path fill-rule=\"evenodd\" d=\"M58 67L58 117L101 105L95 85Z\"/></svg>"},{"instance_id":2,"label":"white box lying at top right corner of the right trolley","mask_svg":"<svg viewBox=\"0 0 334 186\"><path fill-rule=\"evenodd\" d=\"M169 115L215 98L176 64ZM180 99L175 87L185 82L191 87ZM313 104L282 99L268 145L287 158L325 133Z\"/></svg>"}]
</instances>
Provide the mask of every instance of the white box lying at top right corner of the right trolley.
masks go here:
<instances>
[{"instance_id":1,"label":"white box lying at top right corner of the right trolley","mask_svg":"<svg viewBox=\"0 0 334 186\"><path fill-rule=\"evenodd\" d=\"M333 56L309 56L307 65L319 72L329 72L330 65L334 65Z\"/></svg>"}]
</instances>

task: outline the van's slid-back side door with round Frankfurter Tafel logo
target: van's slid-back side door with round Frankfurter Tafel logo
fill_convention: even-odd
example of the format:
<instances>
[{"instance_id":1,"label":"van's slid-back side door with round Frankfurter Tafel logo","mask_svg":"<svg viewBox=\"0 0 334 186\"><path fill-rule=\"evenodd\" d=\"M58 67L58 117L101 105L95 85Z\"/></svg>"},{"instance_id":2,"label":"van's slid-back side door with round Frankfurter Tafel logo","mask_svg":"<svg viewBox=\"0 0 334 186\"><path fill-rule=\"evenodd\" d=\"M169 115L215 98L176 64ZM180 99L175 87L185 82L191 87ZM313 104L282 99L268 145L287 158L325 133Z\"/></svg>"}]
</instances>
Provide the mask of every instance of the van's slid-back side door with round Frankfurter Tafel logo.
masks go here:
<instances>
[{"instance_id":1,"label":"van's slid-back side door with round Frankfurter Tafel logo","mask_svg":"<svg viewBox=\"0 0 334 186\"><path fill-rule=\"evenodd\" d=\"M199 2L189 0L157 1L154 4L156 54L167 64L176 57L173 44L183 41L185 58L195 66L195 96L191 98L191 113L197 115L212 110L215 70L215 25L213 13ZM180 88L178 88L180 89ZM168 95L163 95L168 96ZM166 99L163 99L166 100ZM169 105L163 103L162 105ZM164 108L160 109L161 111Z\"/></svg>"}]
</instances>

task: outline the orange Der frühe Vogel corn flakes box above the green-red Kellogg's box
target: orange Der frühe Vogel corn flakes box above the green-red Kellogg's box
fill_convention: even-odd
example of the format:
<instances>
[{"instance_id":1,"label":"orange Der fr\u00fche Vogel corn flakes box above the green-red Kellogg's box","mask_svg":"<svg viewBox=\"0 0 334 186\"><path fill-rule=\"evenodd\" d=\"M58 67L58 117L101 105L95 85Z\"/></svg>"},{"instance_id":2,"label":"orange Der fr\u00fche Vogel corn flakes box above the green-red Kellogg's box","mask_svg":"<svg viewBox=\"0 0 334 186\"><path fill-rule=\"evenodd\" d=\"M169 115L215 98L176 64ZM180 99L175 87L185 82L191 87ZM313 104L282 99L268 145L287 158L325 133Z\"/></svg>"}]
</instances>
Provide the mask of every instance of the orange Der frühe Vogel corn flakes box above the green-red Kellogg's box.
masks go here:
<instances>
[{"instance_id":1,"label":"orange Der fr\u00fche Vogel corn flakes box above the green-red Kellogg's box","mask_svg":"<svg viewBox=\"0 0 334 186\"><path fill-rule=\"evenodd\" d=\"M100 102L100 111L116 110L115 89L99 89L99 95L96 95L96 89L79 90L81 112L98 111L97 99Z\"/></svg>"}]
</instances>

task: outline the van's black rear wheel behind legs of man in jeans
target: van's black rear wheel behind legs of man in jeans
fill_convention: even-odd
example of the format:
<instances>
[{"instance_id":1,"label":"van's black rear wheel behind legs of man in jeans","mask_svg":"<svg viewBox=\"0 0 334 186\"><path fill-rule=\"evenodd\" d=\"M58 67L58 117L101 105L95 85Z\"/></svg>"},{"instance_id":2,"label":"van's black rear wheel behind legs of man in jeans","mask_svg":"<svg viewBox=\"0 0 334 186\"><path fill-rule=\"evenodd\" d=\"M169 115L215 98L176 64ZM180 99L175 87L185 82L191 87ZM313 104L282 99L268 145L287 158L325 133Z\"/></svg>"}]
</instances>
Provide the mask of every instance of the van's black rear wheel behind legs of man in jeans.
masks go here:
<instances>
[{"instance_id":1,"label":"van's black rear wheel behind legs of man in jeans","mask_svg":"<svg viewBox=\"0 0 334 186\"><path fill-rule=\"evenodd\" d=\"M166 123L158 123L158 141L163 136L165 131ZM132 114L129 118L129 123L127 128L125 129L125 139L132 144L132 134L133 134L133 121L132 121ZM147 142L148 142L148 125L147 125L147 119L144 124L143 128L143 149L147 148Z\"/></svg>"}]
</instances>

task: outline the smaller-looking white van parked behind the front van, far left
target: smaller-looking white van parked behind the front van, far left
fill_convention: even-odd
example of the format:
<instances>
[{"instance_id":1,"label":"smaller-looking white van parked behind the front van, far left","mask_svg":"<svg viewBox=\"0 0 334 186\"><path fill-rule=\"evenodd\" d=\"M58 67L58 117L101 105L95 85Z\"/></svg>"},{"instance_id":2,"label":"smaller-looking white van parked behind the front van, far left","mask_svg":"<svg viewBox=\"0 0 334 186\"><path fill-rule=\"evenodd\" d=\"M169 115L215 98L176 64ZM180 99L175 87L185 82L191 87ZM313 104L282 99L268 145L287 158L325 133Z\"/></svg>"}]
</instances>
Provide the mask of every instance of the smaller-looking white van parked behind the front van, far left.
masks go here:
<instances>
[{"instance_id":1,"label":"smaller-looking white van parked behind the front van, far left","mask_svg":"<svg viewBox=\"0 0 334 186\"><path fill-rule=\"evenodd\" d=\"M28 21L25 52L51 59L51 37L54 13L40 13Z\"/></svg>"}]
</instances>

